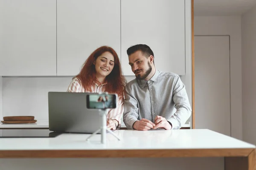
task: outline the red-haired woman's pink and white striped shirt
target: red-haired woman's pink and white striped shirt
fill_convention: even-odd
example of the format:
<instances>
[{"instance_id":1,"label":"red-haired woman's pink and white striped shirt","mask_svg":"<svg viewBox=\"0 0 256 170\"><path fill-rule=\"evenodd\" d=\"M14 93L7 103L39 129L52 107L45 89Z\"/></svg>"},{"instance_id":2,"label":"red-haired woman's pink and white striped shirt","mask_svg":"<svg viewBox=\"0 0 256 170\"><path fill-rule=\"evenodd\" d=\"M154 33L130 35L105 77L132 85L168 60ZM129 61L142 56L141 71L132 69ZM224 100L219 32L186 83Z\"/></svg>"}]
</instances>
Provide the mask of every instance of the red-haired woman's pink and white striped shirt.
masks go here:
<instances>
[{"instance_id":1,"label":"red-haired woman's pink and white striped shirt","mask_svg":"<svg viewBox=\"0 0 256 170\"><path fill-rule=\"evenodd\" d=\"M95 83L95 87L93 89L93 87L91 88L91 91L86 91L84 89L84 87L81 85L81 81L76 77L72 80L72 82L70 83L67 92L76 92L76 93L104 93L105 92L105 85L106 84L102 84L99 85L97 83ZM118 121L118 126L116 127L116 129L121 127L121 118L122 118L122 114L124 112L124 107L123 107L123 99L118 99L117 101L117 105L116 108L111 109L108 112L107 115L107 120L109 119L116 119Z\"/></svg>"}]
</instances>

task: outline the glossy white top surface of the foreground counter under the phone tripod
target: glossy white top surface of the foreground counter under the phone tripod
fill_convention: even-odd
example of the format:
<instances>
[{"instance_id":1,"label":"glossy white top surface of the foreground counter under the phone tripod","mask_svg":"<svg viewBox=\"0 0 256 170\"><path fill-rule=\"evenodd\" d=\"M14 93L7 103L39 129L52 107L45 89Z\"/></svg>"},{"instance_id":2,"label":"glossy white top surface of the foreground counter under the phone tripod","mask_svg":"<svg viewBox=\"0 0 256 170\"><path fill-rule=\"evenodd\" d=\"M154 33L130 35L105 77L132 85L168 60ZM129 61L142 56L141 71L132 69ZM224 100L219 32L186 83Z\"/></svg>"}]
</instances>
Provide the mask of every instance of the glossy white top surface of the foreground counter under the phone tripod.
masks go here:
<instances>
[{"instance_id":1,"label":"glossy white top surface of the foreground counter under the phone tripod","mask_svg":"<svg viewBox=\"0 0 256 170\"><path fill-rule=\"evenodd\" d=\"M100 134L86 141L90 134L64 133L54 138L0 138L0 150L142 150L142 149L227 149L255 148L230 136L207 129L115 130L118 141L107 133L107 143Z\"/></svg>"}]
</instances>

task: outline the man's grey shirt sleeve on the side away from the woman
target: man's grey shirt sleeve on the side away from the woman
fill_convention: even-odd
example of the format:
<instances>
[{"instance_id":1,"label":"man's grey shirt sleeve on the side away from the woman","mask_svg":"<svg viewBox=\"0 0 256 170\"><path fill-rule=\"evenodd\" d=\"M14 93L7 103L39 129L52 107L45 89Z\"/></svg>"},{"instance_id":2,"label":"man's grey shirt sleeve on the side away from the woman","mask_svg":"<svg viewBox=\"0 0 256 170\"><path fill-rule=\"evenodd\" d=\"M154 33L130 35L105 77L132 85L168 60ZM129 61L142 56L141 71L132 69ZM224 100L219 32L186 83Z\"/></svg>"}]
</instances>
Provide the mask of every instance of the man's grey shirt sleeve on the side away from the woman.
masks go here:
<instances>
[{"instance_id":1,"label":"man's grey shirt sleeve on the side away from the woman","mask_svg":"<svg viewBox=\"0 0 256 170\"><path fill-rule=\"evenodd\" d=\"M189 119L192 111L185 85L181 81L180 77L175 79L173 86L173 101L177 111L170 119L168 119L168 121L172 123L172 129L180 129L180 127L186 123L187 119Z\"/></svg>"}]
</instances>

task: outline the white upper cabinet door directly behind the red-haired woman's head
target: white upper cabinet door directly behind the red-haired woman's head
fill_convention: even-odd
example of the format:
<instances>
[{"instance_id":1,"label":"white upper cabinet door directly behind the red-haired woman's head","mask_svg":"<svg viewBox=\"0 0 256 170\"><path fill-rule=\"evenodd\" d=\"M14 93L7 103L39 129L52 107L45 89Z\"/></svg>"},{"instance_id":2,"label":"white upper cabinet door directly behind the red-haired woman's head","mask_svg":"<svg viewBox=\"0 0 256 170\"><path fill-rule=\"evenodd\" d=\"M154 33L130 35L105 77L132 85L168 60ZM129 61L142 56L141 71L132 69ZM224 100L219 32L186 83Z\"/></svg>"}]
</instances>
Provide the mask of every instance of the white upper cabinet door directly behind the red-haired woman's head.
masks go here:
<instances>
[{"instance_id":1,"label":"white upper cabinet door directly behind the red-haired woman's head","mask_svg":"<svg viewBox=\"0 0 256 170\"><path fill-rule=\"evenodd\" d=\"M79 73L102 45L120 56L120 0L57 0L57 75Z\"/></svg>"}]
</instances>

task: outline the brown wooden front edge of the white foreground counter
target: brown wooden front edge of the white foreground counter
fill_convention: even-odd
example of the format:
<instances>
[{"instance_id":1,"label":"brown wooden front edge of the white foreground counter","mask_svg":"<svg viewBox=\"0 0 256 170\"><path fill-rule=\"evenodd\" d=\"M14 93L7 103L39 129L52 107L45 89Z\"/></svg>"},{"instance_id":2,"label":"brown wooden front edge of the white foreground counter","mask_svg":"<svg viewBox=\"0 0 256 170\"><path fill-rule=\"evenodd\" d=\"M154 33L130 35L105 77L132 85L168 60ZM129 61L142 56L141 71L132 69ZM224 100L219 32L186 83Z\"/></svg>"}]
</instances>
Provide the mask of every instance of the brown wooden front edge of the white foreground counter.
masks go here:
<instances>
[{"instance_id":1,"label":"brown wooden front edge of the white foreground counter","mask_svg":"<svg viewBox=\"0 0 256 170\"><path fill-rule=\"evenodd\" d=\"M248 157L255 148L141 150L0 150L0 158Z\"/></svg>"}]
</instances>

